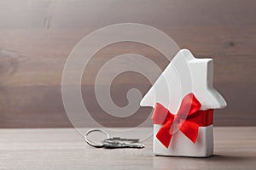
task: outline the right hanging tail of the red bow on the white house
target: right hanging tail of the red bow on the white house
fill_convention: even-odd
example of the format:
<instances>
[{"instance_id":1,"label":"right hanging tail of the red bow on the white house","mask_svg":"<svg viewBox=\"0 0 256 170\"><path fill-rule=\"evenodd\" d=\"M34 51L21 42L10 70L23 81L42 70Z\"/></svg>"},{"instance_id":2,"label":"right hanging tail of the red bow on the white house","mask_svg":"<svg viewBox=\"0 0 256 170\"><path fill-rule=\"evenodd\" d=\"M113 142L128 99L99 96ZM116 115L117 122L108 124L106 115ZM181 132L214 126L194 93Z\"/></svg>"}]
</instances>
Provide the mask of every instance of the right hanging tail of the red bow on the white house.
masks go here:
<instances>
[{"instance_id":1,"label":"right hanging tail of the red bow on the white house","mask_svg":"<svg viewBox=\"0 0 256 170\"><path fill-rule=\"evenodd\" d=\"M197 123L185 121L179 130L195 144L198 136L198 128L199 125Z\"/></svg>"}]
</instances>

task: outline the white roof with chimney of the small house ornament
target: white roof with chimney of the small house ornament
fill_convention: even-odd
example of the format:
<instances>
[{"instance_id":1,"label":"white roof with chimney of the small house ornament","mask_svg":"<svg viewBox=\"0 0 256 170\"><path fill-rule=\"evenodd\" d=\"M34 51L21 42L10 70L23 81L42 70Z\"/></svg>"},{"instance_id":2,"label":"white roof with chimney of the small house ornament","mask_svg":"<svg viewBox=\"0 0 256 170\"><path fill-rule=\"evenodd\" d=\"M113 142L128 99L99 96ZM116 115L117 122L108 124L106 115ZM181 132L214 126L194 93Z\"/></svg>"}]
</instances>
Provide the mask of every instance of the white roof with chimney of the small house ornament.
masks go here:
<instances>
[{"instance_id":1,"label":"white roof with chimney of the small house ornament","mask_svg":"<svg viewBox=\"0 0 256 170\"><path fill-rule=\"evenodd\" d=\"M212 59L196 59L188 49L181 49L167 65L141 100L141 106L155 103L177 112L186 94L194 93L201 102L201 110L220 109L227 104L212 86Z\"/></svg>"}]
</instances>

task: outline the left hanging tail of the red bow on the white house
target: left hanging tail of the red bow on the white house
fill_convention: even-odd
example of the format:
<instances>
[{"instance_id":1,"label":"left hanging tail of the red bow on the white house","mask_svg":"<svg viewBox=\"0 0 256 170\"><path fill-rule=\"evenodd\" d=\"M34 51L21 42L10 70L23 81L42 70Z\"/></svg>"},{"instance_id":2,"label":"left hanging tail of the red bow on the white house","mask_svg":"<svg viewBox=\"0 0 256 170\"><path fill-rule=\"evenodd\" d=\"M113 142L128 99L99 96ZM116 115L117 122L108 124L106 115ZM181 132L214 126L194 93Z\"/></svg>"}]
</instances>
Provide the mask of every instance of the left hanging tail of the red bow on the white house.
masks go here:
<instances>
[{"instance_id":1,"label":"left hanging tail of the red bow on the white house","mask_svg":"<svg viewBox=\"0 0 256 170\"><path fill-rule=\"evenodd\" d=\"M172 122L166 123L166 125L160 127L160 130L156 134L156 138L159 139L160 143L164 144L166 148L169 147L169 144L172 139L172 132L170 131Z\"/></svg>"}]
</instances>

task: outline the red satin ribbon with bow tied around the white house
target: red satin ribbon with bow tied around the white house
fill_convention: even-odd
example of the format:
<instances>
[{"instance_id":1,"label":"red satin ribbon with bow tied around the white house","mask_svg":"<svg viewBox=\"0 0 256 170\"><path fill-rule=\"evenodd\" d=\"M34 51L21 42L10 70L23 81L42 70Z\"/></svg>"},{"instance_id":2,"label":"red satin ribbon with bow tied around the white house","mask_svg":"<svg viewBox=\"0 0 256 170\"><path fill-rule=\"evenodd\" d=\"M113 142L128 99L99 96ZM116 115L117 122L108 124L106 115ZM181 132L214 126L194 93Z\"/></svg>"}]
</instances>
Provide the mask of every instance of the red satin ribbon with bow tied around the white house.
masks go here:
<instances>
[{"instance_id":1,"label":"red satin ribbon with bow tied around the white house","mask_svg":"<svg viewBox=\"0 0 256 170\"><path fill-rule=\"evenodd\" d=\"M200 108L201 103L192 93L183 98L176 115L173 115L160 103L156 103L152 119L154 124L162 125L156 138L168 148L172 135L177 132L174 132L174 129L178 127L195 144L198 127L207 127L213 123L213 110L199 111Z\"/></svg>"}]
</instances>

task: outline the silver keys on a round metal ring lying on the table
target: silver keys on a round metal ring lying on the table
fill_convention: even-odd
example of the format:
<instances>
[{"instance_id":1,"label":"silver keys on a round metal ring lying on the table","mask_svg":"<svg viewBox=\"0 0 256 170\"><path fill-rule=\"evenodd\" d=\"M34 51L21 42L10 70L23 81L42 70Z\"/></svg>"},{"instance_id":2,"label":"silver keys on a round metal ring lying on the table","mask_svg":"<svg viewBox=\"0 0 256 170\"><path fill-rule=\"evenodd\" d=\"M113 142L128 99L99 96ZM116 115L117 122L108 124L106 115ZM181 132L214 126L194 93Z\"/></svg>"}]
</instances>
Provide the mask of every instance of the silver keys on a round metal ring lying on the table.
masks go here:
<instances>
[{"instance_id":1,"label":"silver keys on a round metal ring lying on the table","mask_svg":"<svg viewBox=\"0 0 256 170\"><path fill-rule=\"evenodd\" d=\"M104 133L107 136L107 139L104 139L102 143L97 143L88 139L88 135L92 132L100 132ZM87 144L95 148L108 148L108 149L115 149L115 148L137 148L142 149L144 148L144 144L140 144L139 139L123 139L119 137L110 137L109 134L101 129L91 129L84 135L84 139Z\"/></svg>"}]
</instances>

